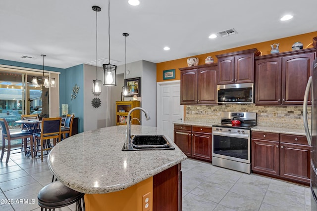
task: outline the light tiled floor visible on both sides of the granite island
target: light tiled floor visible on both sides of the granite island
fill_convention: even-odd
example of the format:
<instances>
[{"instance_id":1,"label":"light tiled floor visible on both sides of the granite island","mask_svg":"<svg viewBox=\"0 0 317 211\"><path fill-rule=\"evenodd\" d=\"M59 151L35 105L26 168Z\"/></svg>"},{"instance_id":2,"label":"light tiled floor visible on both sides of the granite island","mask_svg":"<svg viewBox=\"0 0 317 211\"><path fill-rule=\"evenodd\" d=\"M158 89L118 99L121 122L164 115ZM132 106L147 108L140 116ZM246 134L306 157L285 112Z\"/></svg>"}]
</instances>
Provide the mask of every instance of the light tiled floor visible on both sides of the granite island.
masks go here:
<instances>
[{"instance_id":1,"label":"light tiled floor visible on both sides of the granite island","mask_svg":"<svg viewBox=\"0 0 317 211\"><path fill-rule=\"evenodd\" d=\"M0 211L39 211L37 194L52 180L47 156L18 153L0 162ZM182 163L183 211L310 211L310 188L254 174ZM12 204L8 204L12 200ZM74 211L75 206L56 209Z\"/></svg>"}]
</instances>

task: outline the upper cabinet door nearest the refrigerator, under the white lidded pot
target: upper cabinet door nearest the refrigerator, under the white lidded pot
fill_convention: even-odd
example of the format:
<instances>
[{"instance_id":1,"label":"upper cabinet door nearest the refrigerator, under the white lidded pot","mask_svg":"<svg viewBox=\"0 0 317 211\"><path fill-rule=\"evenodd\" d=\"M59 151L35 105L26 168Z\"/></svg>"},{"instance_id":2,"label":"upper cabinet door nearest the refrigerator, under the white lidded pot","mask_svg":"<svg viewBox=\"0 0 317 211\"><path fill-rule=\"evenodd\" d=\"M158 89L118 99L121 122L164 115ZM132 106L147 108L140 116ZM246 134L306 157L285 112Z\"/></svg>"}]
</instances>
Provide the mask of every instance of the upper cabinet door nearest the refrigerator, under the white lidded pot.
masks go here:
<instances>
[{"instance_id":1,"label":"upper cabinet door nearest the refrigerator, under the white lidded pot","mask_svg":"<svg viewBox=\"0 0 317 211\"><path fill-rule=\"evenodd\" d=\"M283 57L282 104L303 105L314 57L314 52Z\"/></svg>"}]
</instances>

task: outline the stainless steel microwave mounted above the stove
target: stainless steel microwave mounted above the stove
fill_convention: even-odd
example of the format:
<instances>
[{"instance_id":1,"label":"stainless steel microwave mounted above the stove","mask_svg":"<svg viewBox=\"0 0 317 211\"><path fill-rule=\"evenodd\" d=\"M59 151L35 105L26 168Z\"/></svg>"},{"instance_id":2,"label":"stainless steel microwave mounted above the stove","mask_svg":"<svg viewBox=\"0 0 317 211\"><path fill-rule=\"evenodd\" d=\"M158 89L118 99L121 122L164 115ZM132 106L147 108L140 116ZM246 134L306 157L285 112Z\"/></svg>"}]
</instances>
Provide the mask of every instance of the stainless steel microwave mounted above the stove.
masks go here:
<instances>
[{"instance_id":1,"label":"stainless steel microwave mounted above the stove","mask_svg":"<svg viewBox=\"0 0 317 211\"><path fill-rule=\"evenodd\" d=\"M254 103L254 83L217 85L217 103Z\"/></svg>"}]
</instances>

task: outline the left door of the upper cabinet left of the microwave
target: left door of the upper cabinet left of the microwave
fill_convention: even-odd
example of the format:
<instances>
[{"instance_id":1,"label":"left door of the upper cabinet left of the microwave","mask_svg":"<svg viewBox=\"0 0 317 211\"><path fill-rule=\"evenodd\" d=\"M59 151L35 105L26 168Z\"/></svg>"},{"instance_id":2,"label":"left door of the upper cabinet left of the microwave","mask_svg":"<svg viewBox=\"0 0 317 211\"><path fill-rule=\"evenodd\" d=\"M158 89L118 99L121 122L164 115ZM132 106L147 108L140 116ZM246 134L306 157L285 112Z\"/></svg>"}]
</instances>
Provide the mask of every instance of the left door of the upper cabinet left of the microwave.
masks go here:
<instances>
[{"instance_id":1,"label":"left door of the upper cabinet left of the microwave","mask_svg":"<svg viewBox=\"0 0 317 211\"><path fill-rule=\"evenodd\" d=\"M197 69L194 69L180 72L180 104L182 105L197 103L197 71Z\"/></svg>"}]
</instances>

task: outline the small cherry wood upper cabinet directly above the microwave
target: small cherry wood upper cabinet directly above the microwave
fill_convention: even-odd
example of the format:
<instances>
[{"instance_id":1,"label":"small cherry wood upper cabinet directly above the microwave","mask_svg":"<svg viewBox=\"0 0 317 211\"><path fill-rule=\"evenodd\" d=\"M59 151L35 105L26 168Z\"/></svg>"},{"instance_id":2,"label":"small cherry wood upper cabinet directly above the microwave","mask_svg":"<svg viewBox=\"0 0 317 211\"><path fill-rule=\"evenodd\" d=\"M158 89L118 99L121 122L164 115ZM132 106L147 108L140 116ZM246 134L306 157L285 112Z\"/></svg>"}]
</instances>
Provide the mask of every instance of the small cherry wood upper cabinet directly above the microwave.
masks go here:
<instances>
[{"instance_id":1,"label":"small cherry wood upper cabinet directly above the microwave","mask_svg":"<svg viewBox=\"0 0 317 211\"><path fill-rule=\"evenodd\" d=\"M254 82L255 55L260 55L257 48L216 55L218 58L217 84Z\"/></svg>"}]
</instances>

